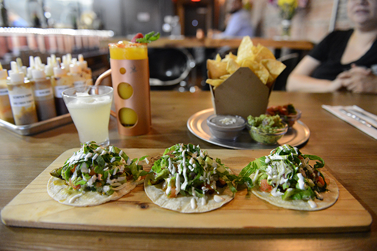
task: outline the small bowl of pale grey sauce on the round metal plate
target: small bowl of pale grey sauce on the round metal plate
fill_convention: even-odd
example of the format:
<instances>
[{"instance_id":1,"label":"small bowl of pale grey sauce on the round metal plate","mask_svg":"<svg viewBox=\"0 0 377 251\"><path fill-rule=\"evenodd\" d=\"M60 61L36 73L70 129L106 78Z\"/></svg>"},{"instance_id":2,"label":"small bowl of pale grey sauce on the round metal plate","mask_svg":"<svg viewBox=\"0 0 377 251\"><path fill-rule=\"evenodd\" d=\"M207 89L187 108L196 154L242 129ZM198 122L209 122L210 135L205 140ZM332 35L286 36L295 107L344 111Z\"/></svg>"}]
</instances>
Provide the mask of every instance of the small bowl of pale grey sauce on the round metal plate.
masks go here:
<instances>
[{"instance_id":1,"label":"small bowl of pale grey sauce on the round metal plate","mask_svg":"<svg viewBox=\"0 0 377 251\"><path fill-rule=\"evenodd\" d=\"M207 118L207 124L213 137L224 141L234 141L246 126L246 119L237 115L213 114Z\"/></svg>"}]
</instances>

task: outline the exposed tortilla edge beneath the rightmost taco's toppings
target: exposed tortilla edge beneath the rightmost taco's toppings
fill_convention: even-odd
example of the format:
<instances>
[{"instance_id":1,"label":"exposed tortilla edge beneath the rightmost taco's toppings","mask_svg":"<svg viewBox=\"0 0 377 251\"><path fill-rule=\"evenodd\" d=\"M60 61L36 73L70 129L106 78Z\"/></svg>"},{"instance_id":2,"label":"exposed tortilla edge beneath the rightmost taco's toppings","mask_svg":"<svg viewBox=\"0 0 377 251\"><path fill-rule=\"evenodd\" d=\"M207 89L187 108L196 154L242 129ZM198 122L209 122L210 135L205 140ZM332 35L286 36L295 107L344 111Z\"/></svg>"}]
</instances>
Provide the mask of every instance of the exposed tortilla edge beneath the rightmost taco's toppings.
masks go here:
<instances>
[{"instance_id":1,"label":"exposed tortilla edge beneath the rightmost taco's toppings","mask_svg":"<svg viewBox=\"0 0 377 251\"><path fill-rule=\"evenodd\" d=\"M274 197L270 195L269 192L262 192L259 188L253 188L252 192L257 197L269 202L272 205L278 207L284 207L288 209L295 209L295 210L302 210L302 211L318 211L325 209L327 207L332 206L339 197L339 188L336 185L335 181L331 179L325 173L322 173L323 176L330 180L329 184L327 184L328 191L322 192L321 195L323 196L323 200L314 199L316 202L317 207L312 208L307 201L303 200L283 200L281 197Z\"/></svg>"}]
</instances>

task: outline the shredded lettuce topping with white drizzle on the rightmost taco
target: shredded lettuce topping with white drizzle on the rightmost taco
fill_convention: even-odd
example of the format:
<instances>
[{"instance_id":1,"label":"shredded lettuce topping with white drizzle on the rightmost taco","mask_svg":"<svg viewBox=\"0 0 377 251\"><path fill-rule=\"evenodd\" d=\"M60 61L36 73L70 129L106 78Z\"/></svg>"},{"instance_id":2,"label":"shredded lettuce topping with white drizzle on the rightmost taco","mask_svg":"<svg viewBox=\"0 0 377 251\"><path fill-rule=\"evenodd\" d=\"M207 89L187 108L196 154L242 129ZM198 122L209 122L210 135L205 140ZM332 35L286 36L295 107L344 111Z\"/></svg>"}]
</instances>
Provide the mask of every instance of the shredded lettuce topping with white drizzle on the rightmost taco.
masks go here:
<instances>
[{"instance_id":1,"label":"shredded lettuce topping with white drizzle on the rightmost taco","mask_svg":"<svg viewBox=\"0 0 377 251\"><path fill-rule=\"evenodd\" d=\"M309 165L310 160L315 161L314 166ZM303 155L298 148L284 145L272 150L270 155L250 162L241 170L237 183L251 189L260 188L261 180L267 180L272 196L284 200L309 200L316 197L314 191L326 190L323 174L318 170L324 165L322 158Z\"/></svg>"}]
</instances>

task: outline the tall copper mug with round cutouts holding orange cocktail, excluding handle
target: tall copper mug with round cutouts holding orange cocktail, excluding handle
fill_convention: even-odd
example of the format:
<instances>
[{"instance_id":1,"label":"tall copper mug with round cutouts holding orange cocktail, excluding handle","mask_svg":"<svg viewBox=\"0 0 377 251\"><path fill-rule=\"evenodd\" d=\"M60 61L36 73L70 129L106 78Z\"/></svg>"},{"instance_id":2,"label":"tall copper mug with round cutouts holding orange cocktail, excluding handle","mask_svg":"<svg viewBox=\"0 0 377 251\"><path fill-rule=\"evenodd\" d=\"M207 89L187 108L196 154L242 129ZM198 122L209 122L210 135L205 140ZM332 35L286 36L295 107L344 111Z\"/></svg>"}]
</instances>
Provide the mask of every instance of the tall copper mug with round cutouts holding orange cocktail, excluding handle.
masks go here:
<instances>
[{"instance_id":1,"label":"tall copper mug with round cutouts holding orange cocktail, excluding handle","mask_svg":"<svg viewBox=\"0 0 377 251\"><path fill-rule=\"evenodd\" d=\"M118 132L146 134L151 126L147 44L120 41L109 49Z\"/></svg>"}]
</instances>

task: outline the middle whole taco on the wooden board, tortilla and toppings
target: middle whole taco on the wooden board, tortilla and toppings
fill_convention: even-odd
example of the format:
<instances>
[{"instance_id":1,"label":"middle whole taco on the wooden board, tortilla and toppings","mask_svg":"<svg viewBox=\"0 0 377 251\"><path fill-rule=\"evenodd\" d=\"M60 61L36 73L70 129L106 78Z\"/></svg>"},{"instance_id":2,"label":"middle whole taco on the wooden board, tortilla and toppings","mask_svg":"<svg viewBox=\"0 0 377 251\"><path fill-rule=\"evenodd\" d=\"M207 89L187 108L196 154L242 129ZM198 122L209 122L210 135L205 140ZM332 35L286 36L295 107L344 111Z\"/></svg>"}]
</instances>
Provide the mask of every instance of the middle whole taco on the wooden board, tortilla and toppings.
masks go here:
<instances>
[{"instance_id":1,"label":"middle whole taco on the wooden board, tortilla and toppings","mask_svg":"<svg viewBox=\"0 0 377 251\"><path fill-rule=\"evenodd\" d=\"M166 149L151 170L144 180L147 196L158 206L181 213L214 210L236 192L232 171L192 144Z\"/></svg>"}]
</instances>

